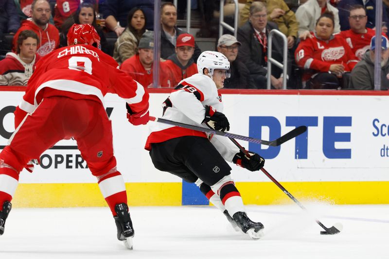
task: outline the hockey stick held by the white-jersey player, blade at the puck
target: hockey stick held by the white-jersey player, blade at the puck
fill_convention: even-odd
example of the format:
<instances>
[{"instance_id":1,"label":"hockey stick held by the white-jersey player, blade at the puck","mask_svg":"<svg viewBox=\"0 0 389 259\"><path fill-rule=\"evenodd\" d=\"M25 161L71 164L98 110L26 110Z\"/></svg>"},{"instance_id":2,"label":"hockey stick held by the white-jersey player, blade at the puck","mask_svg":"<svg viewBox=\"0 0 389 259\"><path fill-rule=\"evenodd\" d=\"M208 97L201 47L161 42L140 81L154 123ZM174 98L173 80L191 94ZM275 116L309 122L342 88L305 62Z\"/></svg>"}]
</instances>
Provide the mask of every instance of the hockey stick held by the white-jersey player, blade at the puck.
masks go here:
<instances>
[{"instance_id":1,"label":"hockey stick held by the white-jersey player, blade at the puck","mask_svg":"<svg viewBox=\"0 0 389 259\"><path fill-rule=\"evenodd\" d=\"M233 142L233 144L235 144L235 146L237 146L240 151L242 151L246 156L250 157L250 154L248 154L248 151L243 147L241 146L236 140L234 140L233 138L230 138L230 140ZM300 206L301 209L305 210L308 212L308 210L300 203L300 201L298 201L292 194L290 194L282 185L281 183L279 183L275 178L273 178L266 170L265 168L261 168L261 171L270 179L272 180L272 182L274 182L282 191L284 194L288 195L289 198L291 198L297 205ZM334 226L332 227L326 227L324 226L324 224L322 224L320 221L318 221L317 219L315 219L316 223L318 223L318 225L320 227L322 227L325 231L320 231L320 234L321 235L335 235L337 233L339 233L343 226L342 224L340 223L336 223L334 224Z\"/></svg>"}]
</instances>

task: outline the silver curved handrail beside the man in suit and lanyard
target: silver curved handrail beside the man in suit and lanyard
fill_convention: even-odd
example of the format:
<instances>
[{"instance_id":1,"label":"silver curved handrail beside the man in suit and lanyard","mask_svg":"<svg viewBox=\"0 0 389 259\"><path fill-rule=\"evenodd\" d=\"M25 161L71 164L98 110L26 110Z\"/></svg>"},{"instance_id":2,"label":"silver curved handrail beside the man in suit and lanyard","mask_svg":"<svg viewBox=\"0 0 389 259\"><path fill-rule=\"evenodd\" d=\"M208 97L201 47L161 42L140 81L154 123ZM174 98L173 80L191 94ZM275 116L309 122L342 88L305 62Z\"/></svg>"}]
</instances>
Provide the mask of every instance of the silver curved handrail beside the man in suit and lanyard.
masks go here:
<instances>
[{"instance_id":1,"label":"silver curved handrail beside the man in suit and lanyard","mask_svg":"<svg viewBox=\"0 0 389 259\"><path fill-rule=\"evenodd\" d=\"M278 62L277 60L273 59L271 57L271 52L272 52L272 42L273 42L273 36L274 34L279 35L280 37L283 38L283 64ZM270 76L271 76L271 64L274 64L278 66L279 68L283 69L283 89L286 89L286 79L287 79L287 68L288 68L288 41L286 39L285 34L278 30L271 30L269 32L269 35L267 36L267 85L266 88L270 89L271 88L271 81L270 81Z\"/></svg>"}]
</instances>

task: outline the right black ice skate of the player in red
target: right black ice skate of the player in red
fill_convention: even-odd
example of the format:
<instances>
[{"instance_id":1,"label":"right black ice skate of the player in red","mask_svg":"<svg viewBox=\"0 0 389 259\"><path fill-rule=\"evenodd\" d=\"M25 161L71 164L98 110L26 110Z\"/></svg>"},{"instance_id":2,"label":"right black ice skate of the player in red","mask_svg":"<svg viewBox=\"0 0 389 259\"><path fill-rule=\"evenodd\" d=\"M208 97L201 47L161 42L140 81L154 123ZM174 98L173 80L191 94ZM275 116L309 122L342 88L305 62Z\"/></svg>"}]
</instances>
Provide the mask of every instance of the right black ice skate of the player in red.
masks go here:
<instances>
[{"instance_id":1,"label":"right black ice skate of the player in red","mask_svg":"<svg viewBox=\"0 0 389 259\"><path fill-rule=\"evenodd\" d=\"M132 238L134 237L135 232L132 227L128 206L125 203L116 204L115 211L117 216L113 218L115 219L116 227L118 229L118 239L123 241L128 249L132 250Z\"/></svg>"}]
</instances>

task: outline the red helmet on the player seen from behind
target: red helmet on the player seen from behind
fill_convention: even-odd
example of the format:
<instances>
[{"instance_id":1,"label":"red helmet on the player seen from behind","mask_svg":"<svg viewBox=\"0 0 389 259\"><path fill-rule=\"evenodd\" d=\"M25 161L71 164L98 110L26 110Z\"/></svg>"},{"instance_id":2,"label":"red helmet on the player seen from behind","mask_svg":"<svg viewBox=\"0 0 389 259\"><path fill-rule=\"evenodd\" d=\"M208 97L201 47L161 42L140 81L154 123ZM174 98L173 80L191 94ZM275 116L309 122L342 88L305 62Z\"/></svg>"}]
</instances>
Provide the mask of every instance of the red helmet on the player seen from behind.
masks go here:
<instances>
[{"instance_id":1,"label":"red helmet on the player seen from behind","mask_svg":"<svg viewBox=\"0 0 389 259\"><path fill-rule=\"evenodd\" d=\"M88 44L100 49L100 36L88 23L73 24L68 32L68 46Z\"/></svg>"}]
</instances>

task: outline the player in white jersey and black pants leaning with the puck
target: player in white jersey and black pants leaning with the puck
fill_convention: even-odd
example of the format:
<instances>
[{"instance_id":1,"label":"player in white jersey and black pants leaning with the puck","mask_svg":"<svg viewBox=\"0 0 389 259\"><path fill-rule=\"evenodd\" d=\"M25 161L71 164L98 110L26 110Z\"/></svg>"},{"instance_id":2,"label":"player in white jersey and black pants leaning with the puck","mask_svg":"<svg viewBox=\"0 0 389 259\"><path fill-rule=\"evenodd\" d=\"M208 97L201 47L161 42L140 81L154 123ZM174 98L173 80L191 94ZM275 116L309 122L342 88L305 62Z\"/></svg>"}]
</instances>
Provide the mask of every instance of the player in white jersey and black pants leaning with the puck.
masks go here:
<instances>
[{"instance_id":1,"label":"player in white jersey and black pants leaning with the puck","mask_svg":"<svg viewBox=\"0 0 389 259\"><path fill-rule=\"evenodd\" d=\"M179 82L163 103L164 119L216 130L229 130L218 89L230 77L230 62L221 53L205 51L197 59L198 74ZM251 238L263 235L262 223L251 221L239 191L231 178L233 162L250 171L260 170L265 160L258 154L245 156L228 138L209 135L192 129L155 123L150 127L146 150L150 151L154 166L177 175L187 182L195 182L201 192L237 229Z\"/></svg>"}]
</instances>

